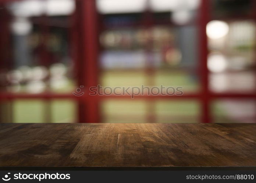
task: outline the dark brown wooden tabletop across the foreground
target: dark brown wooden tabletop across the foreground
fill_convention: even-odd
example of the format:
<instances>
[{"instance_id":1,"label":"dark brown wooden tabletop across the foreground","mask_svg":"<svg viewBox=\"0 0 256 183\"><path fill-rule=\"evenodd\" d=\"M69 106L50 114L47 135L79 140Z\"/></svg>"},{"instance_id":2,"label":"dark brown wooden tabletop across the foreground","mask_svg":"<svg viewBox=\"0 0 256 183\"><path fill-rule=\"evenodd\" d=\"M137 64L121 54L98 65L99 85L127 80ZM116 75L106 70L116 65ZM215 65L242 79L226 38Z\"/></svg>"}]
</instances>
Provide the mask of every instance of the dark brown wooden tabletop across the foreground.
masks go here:
<instances>
[{"instance_id":1,"label":"dark brown wooden tabletop across the foreground","mask_svg":"<svg viewBox=\"0 0 256 183\"><path fill-rule=\"evenodd\" d=\"M0 124L0 167L256 167L256 124Z\"/></svg>"}]
</instances>

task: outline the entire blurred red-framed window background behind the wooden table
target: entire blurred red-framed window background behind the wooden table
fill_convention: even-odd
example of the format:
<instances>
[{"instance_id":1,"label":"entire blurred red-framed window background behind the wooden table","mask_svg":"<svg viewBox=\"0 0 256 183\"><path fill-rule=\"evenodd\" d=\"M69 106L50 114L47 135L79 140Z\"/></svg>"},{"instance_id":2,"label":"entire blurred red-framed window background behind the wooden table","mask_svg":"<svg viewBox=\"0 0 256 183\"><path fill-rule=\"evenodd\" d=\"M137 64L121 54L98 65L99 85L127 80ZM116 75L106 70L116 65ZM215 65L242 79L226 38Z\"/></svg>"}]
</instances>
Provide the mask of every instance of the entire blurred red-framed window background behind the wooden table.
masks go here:
<instances>
[{"instance_id":1,"label":"entire blurred red-framed window background behind the wooden table","mask_svg":"<svg viewBox=\"0 0 256 183\"><path fill-rule=\"evenodd\" d=\"M0 0L0 122L254 123L255 23L253 0ZM184 95L72 94L97 84Z\"/></svg>"}]
</instances>

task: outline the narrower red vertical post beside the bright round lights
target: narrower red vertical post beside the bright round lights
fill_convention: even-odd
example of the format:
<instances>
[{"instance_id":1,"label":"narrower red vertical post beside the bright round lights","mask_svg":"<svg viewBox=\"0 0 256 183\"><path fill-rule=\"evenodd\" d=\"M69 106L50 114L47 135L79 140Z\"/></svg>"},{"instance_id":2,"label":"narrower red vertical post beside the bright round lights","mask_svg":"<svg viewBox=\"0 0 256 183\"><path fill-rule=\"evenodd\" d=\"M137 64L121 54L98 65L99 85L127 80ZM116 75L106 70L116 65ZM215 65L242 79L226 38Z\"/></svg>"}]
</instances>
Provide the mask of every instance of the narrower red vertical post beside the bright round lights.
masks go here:
<instances>
[{"instance_id":1,"label":"narrower red vertical post beside the bright round lights","mask_svg":"<svg viewBox=\"0 0 256 183\"><path fill-rule=\"evenodd\" d=\"M208 45L206 25L209 22L210 1L201 0L199 8L199 67L201 83L201 122L210 123L209 71L207 68Z\"/></svg>"}]
</instances>

